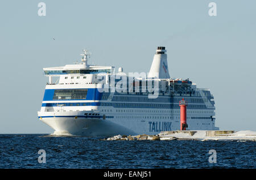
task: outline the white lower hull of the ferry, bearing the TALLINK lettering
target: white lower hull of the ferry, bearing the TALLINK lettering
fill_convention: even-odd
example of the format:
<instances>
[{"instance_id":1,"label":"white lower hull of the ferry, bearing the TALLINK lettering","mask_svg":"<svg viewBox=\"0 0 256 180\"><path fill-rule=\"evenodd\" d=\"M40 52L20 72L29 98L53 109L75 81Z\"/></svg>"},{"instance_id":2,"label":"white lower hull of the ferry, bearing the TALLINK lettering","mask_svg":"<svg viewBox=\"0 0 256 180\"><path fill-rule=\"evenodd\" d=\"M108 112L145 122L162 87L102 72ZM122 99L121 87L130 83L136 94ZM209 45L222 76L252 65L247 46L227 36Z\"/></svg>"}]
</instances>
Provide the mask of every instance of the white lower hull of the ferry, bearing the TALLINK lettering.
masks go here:
<instances>
[{"instance_id":1,"label":"white lower hull of the ferry, bearing the TALLINK lettering","mask_svg":"<svg viewBox=\"0 0 256 180\"><path fill-rule=\"evenodd\" d=\"M161 131L179 130L180 122L166 119L98 119L85 118L85 112L38 112L39 120L52 127L55 135L113 136L155 135ZM87 112L92 113L92 112ZM115 117L115 115L114 115ZM201 121L187 121L189 130L214 130L213 126L202 126ZM217 128L215 128L217 130Z\"/></svg>"}]
</instances>

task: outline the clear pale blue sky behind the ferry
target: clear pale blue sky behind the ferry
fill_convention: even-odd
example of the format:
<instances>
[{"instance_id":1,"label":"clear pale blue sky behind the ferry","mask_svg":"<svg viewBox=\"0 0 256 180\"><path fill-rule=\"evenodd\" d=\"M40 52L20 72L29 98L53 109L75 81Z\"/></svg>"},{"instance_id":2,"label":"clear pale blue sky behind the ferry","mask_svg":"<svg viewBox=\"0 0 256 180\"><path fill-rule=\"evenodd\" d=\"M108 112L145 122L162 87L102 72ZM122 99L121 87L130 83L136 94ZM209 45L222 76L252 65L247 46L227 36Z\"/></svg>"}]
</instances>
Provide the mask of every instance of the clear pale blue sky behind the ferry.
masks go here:
<instances>
[{"instance_id":1,"label":"clear pale blue sky behind the ferry","mask_svg":"<svg viewBox=\"0 0 256 180\"><path fill-rule=\"evenodd\" d=\"M210 2L217 16L209 16ZM256 131L255 7L254 0L1 1L0 133L53 132L37 117L43 67L80 61L87 48L97 65L148 72L157 46L166 46L172 77L210 88L217 127Z\"/></svg>"}]
</instances>

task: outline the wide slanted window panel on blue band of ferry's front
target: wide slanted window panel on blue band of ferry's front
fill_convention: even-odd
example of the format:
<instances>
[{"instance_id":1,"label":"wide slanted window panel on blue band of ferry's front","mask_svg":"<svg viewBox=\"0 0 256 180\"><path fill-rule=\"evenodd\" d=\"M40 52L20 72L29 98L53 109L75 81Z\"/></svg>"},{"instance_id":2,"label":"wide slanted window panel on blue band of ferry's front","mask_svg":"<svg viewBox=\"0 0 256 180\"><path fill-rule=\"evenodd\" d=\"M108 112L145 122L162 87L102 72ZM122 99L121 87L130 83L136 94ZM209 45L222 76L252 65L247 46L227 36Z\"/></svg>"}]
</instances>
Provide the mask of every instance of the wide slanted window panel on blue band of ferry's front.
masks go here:
<instances>
[{"instance_id":1,"label":"wide slanted window panel on blue band of ferry's front","mask_svg":"<svg viewBox=\"0 0 256 180\"><path fill-rule=\"evenodd\" d=\"M55 89L53 100L85 99L88 89Z\"/></svg>"}]
</instances>

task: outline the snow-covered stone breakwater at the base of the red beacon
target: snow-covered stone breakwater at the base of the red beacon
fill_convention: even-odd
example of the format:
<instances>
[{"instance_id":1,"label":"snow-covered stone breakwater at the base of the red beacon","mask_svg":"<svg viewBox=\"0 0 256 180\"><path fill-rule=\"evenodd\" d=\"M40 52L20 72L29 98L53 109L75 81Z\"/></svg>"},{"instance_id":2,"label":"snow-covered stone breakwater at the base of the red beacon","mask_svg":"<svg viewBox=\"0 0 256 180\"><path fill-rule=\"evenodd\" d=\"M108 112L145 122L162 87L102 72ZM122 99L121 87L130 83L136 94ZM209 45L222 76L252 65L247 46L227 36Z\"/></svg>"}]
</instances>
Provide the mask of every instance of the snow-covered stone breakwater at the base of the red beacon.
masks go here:
<instances>
[{"instance_id":1,"label":"snow-covered stone breakwater at the base of the red beacon","mask_svg":"<svg viewBox=\"0 0 256 180\"><path fill-rule=\"evenodd\" d=\"M254 141L255 131L162 131L158 135L116 135L100 140L232 140L232 141Z\"/></svg>"}]
</instances>

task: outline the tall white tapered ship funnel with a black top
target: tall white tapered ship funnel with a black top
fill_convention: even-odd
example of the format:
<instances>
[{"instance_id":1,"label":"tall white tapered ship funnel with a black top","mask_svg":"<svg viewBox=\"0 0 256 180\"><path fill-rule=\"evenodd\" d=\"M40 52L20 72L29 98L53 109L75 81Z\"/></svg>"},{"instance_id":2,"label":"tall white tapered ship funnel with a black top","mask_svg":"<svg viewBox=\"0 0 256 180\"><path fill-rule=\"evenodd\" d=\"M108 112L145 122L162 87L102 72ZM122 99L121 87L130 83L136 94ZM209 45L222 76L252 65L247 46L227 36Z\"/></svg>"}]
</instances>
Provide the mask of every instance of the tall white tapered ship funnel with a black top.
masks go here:
<instances>
[{"instance_id":1,"label":"tall white tapered ship funnel with a black top","mask_svg":"<svg viewBox=\"0 0 256 180\"><path fill-rule=\"evenodd\" d=\"M158 73L158 76L155 76ZM166 47L160 46L156 50L154 59L148 74L148 78L169 79Z\"/></svg>"}]
</instances>

